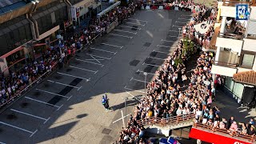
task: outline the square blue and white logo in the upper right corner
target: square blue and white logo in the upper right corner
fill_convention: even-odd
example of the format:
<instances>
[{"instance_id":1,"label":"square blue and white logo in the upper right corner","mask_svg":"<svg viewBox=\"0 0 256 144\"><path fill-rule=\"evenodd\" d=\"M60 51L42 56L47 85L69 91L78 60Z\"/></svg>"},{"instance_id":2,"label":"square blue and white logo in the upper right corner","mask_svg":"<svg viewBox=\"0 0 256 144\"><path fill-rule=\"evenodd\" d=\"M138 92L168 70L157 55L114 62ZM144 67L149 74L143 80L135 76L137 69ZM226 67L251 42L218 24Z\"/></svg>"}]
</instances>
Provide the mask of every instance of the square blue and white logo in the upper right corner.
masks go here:
<instances>
[{"instance_id":1,"label":"square blue and white logo in the upper right corner","mask_svg":"<svg viewBox=\"0 0 256 144\"><path fill-rule=\"evenodd\" d=\"M248 20L249 8L248 4L236 5L236 20Z\"/></svg>"}]
</instances>

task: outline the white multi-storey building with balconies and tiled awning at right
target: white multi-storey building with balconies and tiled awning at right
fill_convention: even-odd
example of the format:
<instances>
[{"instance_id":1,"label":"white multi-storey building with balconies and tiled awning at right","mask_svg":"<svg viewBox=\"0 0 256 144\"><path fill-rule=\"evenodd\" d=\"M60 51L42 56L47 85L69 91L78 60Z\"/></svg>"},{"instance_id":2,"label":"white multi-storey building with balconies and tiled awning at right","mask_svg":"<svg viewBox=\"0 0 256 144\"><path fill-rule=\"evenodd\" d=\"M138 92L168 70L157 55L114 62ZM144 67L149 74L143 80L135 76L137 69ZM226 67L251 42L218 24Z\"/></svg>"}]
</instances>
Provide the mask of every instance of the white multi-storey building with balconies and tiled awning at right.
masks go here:
<instances>
[{"instance_id":1,"label":"white multi-storey building with balconies and tiled awning at right","mask_svg":"<svg viewBox=\"0 0 256 144\"><path fill-rule=\"evenodd\" d=\"M248 5L247 20L236 20L237 4ZM207 48L215 52L211 72L225 79L226 91L238 102L249 102L256 86L256 2L218 2L217 19Z\"/></svg>"}]
</instances>

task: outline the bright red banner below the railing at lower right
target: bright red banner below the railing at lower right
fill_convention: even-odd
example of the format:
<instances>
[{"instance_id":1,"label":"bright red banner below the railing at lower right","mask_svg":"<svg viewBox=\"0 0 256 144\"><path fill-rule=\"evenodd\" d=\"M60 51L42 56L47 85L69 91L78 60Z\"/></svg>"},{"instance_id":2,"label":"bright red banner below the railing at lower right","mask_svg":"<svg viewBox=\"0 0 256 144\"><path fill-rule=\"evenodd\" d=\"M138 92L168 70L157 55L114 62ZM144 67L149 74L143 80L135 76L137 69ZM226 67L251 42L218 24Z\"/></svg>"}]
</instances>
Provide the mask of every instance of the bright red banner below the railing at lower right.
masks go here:
<instances>
[{"instance_id":1,"label":"bright red banner below the railing at lower right","mask_svg":"<svg viewBox=\"0 0 256 144\"><path fill-rule=\"evenodd\" d=\"M205 130L199 130L197 128L192 127L190 130L190 138L200 139L203 142L210 142L214 144L252 144L252 142L244 142L235 137L231 138L226 137L226 134L221 134L218 132L207 132ZM242 139L242 138L239 138Z\"/></svg>"}]
</instances>

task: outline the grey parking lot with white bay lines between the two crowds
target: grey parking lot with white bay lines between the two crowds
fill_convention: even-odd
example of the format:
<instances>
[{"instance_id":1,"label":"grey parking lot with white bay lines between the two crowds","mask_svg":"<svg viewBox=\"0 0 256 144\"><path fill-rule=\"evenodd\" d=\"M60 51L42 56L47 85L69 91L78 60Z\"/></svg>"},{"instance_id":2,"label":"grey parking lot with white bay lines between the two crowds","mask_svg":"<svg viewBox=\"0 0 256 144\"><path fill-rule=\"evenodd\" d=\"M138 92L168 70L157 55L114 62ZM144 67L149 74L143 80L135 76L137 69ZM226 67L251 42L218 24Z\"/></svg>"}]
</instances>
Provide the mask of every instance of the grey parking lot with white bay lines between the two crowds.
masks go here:
<instances>
[{"instance_id":1,"label":"grey parking lot with white bay lines between the two crowds","mask_svg":"<svg viewBox=\"0 0 256 144\"><path fill-rule=\"evenodd\" d=\"M178 28L190 20L189 14L137 11L4 110L0 143L118 140L118 130L126 123L122 117L132 114L133 105L145 95L145 82L174 50L182 34ZM105 92L114 110L102 106Z\"/></svg>"}]
</instances>

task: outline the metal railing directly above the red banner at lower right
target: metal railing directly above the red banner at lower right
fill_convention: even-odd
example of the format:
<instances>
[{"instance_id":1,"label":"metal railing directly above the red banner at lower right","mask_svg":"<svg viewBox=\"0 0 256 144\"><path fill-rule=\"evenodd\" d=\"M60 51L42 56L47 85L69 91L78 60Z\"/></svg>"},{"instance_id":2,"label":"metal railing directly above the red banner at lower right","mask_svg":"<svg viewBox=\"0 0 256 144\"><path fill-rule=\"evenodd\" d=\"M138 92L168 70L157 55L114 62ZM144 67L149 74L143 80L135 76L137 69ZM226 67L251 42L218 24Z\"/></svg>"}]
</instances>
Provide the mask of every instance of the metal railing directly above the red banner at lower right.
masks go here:
<instances>
[{"instance_id":1,"label":"metal railing directly above the red banner at lower right","mask_svg":"<svg viewBox=\"0 0 256 144\"><path fill-rule=\"evenodd\" d=\"M210 130L211 133L229 134L230 136L232 136L234 138L246 139L246 141L248 141L248 142L254 142L256 140L256 136L254 136L254 135L251 136L251 135L239 134L238 132L235 132L235 131L230 131L230 130L226 130L226 129L220 129L217 127L207 126L200 122L197 122L197 123L194 122L193 127L195 127L195 128L199 127L199 128L205 129L205 130Z\"/></svg>"}]
</instances>

